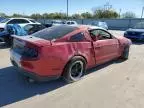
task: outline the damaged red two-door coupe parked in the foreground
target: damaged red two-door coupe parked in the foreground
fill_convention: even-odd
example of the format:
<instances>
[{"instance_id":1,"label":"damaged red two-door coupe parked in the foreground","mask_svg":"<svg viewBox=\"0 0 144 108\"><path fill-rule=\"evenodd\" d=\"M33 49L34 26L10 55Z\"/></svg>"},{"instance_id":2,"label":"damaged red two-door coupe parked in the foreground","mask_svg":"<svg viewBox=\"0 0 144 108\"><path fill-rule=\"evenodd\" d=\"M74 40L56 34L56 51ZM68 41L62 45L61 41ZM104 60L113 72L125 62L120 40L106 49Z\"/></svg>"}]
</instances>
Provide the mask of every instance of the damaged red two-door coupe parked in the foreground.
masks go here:
<instances>
[{"instance_id":1,"label":"damaged red two-door coupe parked in the foreground","mask_svg":"<svg viewBox=\"0 0 144 108\"><path fill-rule=\"evenodd\" d=\"M93 26L54 26L31 36L14 36L11 62L36 81L81 79L86 69L116 58L128 59L131 41Z\"/></svg>"}]
</instances>

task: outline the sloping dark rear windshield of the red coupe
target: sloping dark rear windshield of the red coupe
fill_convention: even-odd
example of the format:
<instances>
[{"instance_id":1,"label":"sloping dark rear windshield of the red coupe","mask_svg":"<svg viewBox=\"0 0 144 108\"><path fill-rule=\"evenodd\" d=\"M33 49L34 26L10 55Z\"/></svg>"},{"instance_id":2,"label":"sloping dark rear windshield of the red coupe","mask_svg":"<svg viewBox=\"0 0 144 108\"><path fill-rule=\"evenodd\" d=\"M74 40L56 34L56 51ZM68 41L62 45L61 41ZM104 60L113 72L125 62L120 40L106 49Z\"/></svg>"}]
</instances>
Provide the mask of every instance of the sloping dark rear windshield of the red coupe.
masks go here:
<instances>
[{"instance_id":1,"label":"sloping dark rear windshield of the red coupe","mask_svg":"<svg viewBox=\"0 0 144 108\"><path fill-rule=\"evenodd\" d=\"M43 29L39 32L36 32L32 34L32 36L39 37L46 40L53 40L53 39L61 38L76 29L77 27L66 26L66 25L53 26L50 28Z\"/></svg>"}]
</instances>

